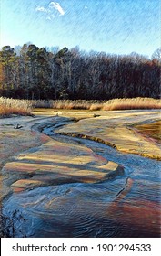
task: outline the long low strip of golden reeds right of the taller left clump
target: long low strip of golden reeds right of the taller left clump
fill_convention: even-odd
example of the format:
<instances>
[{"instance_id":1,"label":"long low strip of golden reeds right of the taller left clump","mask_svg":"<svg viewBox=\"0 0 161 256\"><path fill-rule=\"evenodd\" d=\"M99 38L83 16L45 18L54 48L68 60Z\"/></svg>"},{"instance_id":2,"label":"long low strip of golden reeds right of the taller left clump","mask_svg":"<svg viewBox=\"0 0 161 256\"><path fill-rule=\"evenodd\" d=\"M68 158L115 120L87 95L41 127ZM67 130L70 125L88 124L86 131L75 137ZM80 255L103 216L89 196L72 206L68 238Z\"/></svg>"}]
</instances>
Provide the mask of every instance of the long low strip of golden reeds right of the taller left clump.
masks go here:
<instances>
[{"instance_id":1,"label":"long low strip of golden reeds right of the taller left clump","mask_svg":"<svg viewBox=\"0 0 161 256\"><path fill-rule=\"evenodd\" d=\"M66 110L115 111L133 109L161 109L161 100L153 98L114 99L110 101L32 101L35 108L53 108Z\"/></svg>"}]
</instances>

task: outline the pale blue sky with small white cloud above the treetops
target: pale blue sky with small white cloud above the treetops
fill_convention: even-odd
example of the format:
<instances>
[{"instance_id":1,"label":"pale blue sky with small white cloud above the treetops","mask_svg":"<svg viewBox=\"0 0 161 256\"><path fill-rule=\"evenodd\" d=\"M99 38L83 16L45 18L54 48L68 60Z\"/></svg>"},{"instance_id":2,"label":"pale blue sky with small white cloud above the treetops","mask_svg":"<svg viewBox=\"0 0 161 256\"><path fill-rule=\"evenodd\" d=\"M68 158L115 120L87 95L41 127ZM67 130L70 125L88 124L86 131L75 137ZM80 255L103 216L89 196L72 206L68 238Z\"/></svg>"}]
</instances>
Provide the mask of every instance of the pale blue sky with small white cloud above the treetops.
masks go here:
<instances>
[{"instance_id":1,"label":"pale blue sky with small white cloud above the treetops","mask_svg":"<svg viewBox=\"0 0 161 256\"><path fill-rule=\"evenodd\" d=\"M160 48L160 0L2 0L0 47L27 42L151 57Z\"/></svg>"}]
</instances>

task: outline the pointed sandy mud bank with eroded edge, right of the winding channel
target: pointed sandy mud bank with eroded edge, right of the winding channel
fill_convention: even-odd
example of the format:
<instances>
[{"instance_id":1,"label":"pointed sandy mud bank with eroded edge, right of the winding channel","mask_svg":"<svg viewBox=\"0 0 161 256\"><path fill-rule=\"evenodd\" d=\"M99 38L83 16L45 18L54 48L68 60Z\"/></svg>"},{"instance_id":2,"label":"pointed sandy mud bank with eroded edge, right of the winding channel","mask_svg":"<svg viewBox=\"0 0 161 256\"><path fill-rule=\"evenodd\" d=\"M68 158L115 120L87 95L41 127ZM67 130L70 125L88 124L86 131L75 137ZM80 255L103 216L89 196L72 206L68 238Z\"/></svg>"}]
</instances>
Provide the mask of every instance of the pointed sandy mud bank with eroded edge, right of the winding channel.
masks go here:
<instances>
[{"instance_id":1,"label":"pointed sandy mud bank with eroded edge, right of the winding channel","mask_svg":"<svg viewBox=\"0 0 161 256\"><path fill-rule=\"evenodd\" d=\"M141 133L136 133L134 129L136 123L154 123L159 118L160 112L126 111L116 112L116 115L107 112L106 116L80 120L77 123L68 124L62 129L57 129L56 132L101 142L113 146L121 152L161 160L160 145L156 141L150 141ZM146 132L146 126L143 130ZM158 131L156 130L156 133Z\"/></svg>"}]
</instances>

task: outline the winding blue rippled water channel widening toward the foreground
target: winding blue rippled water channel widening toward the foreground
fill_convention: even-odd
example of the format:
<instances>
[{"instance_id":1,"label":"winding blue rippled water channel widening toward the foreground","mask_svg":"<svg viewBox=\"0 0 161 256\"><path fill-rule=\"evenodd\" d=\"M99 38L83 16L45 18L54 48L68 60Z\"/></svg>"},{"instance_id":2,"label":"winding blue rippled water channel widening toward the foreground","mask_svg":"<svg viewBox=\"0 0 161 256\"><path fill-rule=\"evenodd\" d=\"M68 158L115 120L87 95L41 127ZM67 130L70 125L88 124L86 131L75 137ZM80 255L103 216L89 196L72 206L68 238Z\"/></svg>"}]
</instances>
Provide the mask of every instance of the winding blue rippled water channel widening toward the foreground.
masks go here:
<instances>
[{"instance_id":1,"label":"winding blue rippled water channel widening toward the foreground","mask_svg":"<svg viewBox=\"0 0 161 256\"><path fill-rule=\"evenodd\" d=\"M36 187L5 198L3 212L15 212L15 237L160 237L159 161L123 154L91 140L42 133L58 142L86 145L97 155L125 167L124 174L97 183Z\"/></svg>"}]
</instances>

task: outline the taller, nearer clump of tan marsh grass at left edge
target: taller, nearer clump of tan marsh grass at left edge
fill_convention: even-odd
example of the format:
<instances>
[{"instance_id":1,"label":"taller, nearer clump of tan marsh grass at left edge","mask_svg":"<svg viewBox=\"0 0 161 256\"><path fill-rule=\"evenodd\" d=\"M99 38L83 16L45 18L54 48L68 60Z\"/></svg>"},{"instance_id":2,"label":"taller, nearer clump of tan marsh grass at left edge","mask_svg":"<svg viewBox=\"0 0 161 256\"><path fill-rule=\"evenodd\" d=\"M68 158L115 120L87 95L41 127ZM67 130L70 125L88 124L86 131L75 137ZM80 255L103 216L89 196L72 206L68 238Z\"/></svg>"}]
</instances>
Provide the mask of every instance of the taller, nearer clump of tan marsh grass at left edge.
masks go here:
<instances>
[{"instance_id":1,"label":"taller, nearer clump of tan marsh grass at left edge","mask_svg":"<svg viewBox=\"0 0 161 256\"><path fill-rule=\"evenodd\" d=\"M30 115L31 109L30 101L0 97L0 117L8 117L12 114Z\"/></svg>"}]
</instances>

